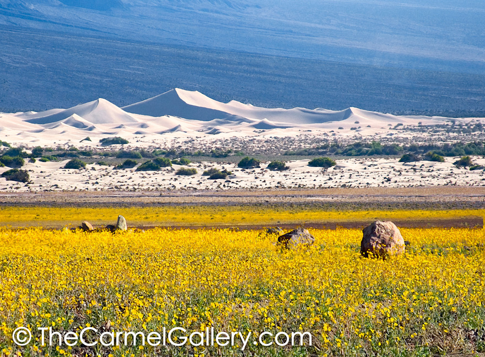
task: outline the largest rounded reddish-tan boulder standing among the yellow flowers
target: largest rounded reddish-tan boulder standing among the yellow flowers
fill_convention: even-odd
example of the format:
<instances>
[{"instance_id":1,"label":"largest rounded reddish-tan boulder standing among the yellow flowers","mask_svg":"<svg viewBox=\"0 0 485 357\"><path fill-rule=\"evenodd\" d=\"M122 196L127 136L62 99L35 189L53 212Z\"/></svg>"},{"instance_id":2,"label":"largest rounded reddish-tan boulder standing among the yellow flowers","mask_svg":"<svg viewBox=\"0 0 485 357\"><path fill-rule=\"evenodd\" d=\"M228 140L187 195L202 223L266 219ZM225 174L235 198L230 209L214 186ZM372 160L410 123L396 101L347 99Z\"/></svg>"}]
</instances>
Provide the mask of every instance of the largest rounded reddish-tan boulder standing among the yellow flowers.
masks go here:
<instances>
[{"instance_id":1,"label":"largest rounded reddish-tan boulder standing among the yellow flowers","mask_svg":"<svg viewBox=\"0 0 485 357\"><path fill-rule=\"evenodd\" d=\"M360 253L364 257L387 258L404 253L405 242L399 228L390 221L375 221L362 230Z\"/></svg>"}]
</instances>

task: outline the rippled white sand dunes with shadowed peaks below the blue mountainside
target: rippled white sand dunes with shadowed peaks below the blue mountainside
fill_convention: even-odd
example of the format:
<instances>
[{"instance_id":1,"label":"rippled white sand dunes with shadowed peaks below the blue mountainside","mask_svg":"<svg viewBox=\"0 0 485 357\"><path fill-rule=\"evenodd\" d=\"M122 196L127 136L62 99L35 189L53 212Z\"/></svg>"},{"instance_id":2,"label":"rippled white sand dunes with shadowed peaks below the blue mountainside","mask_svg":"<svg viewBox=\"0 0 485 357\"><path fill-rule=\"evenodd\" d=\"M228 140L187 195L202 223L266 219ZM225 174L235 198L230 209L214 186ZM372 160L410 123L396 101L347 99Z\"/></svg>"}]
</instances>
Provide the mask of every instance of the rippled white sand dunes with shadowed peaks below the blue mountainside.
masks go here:
<instances>
[{"instance_id":1,"label":"rippled white sand dunes with shadowed peaks below the blue mountainside","mask_svg":"<svg viewBox=\"0 0 485 357\"><path fill-rule=\"evenodd\" d=\"M0 133L2 140L26 146L32 142L45 146L97 146L100 139L109 136L123 136L139 147L180 145L183 139L218 140L214 145L221 146L221 140L230 138L267 140L268 137L305 135L331 136L332 140L387 138L387 141L397 135L409 141L416 140L417 131L411 128L419 123L451 124L452 121L468 123L471 120L485 123L484 118L397 116L357 108L337 111L268 109L234 100L222 103L202 93L177 88L123 108L100 98L69 109L0 113ZM390 130L397 124L402 124L400 129ZM419 135L422 140L437 139L424 131ZM92 142L79 144L86 136L92 138ZM307 144L303 142L298 146L301 147Z\"/></svg>"}]
</instances>

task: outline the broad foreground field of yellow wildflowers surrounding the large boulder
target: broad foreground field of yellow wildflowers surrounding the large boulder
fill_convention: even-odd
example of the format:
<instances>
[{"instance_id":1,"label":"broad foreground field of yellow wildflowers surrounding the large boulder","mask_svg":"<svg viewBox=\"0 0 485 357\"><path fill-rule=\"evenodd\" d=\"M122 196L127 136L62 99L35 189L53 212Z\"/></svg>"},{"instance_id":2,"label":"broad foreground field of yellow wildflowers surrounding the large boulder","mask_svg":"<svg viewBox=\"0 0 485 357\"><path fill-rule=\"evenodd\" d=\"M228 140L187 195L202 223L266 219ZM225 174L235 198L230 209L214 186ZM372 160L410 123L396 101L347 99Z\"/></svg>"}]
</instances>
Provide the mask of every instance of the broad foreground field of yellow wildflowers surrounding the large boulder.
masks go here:
<instances>
[{"instance_id":1,"label":"broad foreground field of yellow wildflowers surrounding the large boulder","mask_svg":"<svg viewBox=\"0 0 485 357\"><path fill-rule=\"evenodd\" d=\"M485 350L481 229L401 229L388 260L359 253L362 232L310 230L310 248L283 251L264 231L0 229L2 356L434 356ZM32 340L13 341L18 327ZM254 338L184 346L84 345L96 331L240 331ZM256 339L307 331L295 346ZM57 336L57 335L56 335ZM178 330L175 341L183 341ZM57 338L57 340L56 340ZM281 340L284 340L284 337ZM205 340L204 340L205 341ZM270 343L268 339L263 340ZM46 341L45 341L46 342ZM256 342L256 343L255 343ZM244 350L242 351L242 348Z\"/></svg>"}]
</instances>

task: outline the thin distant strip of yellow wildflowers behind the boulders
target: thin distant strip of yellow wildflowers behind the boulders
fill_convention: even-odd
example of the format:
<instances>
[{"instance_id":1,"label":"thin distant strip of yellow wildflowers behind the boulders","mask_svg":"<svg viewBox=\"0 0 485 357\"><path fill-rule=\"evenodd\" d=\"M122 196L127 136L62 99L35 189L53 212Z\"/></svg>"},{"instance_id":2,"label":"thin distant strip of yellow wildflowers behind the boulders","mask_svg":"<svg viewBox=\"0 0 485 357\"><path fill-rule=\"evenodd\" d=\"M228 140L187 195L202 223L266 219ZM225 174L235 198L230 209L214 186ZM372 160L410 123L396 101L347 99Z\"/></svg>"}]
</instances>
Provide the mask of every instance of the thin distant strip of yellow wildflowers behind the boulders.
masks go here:
<instances>
[{"instance_id":1,"label":"thin distant strip of yellow wildflowers behind the boulders","mask_svg":"<svg viewBox=\"0 0 485 357\"><path fill-rule=\"evenodd\" d=\"M458 219L484 217L485 210L368 210L323 211L305 206L134 206L134 207L0 207L0 225L23 227L78 225L88 220L95 225L113 223L118 215L129 224L193 226L278 223L343 222L381 220Z\"/></svg>"}]
</instances>

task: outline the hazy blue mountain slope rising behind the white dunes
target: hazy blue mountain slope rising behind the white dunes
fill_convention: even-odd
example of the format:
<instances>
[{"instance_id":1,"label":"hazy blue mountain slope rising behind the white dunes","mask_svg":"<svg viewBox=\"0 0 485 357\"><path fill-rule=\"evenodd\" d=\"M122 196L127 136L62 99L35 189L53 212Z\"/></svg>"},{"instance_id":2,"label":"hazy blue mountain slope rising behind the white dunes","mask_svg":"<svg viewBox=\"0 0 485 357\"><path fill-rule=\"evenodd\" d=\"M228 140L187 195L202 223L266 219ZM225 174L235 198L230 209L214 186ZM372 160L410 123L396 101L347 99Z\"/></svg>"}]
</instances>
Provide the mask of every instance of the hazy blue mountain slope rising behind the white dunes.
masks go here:
<instances>
[{"instance_id":1,"label":"hazy blue mountain slope rising behind the white dunes","mask_svg":"<svg viewBox=\"0 0 485 357\"><path fill-rule=\"evenodd\" d=\"M264 107L485 112L479 0L0 0L0 111L175 87Z\"/></svg>"}]
</instances>

